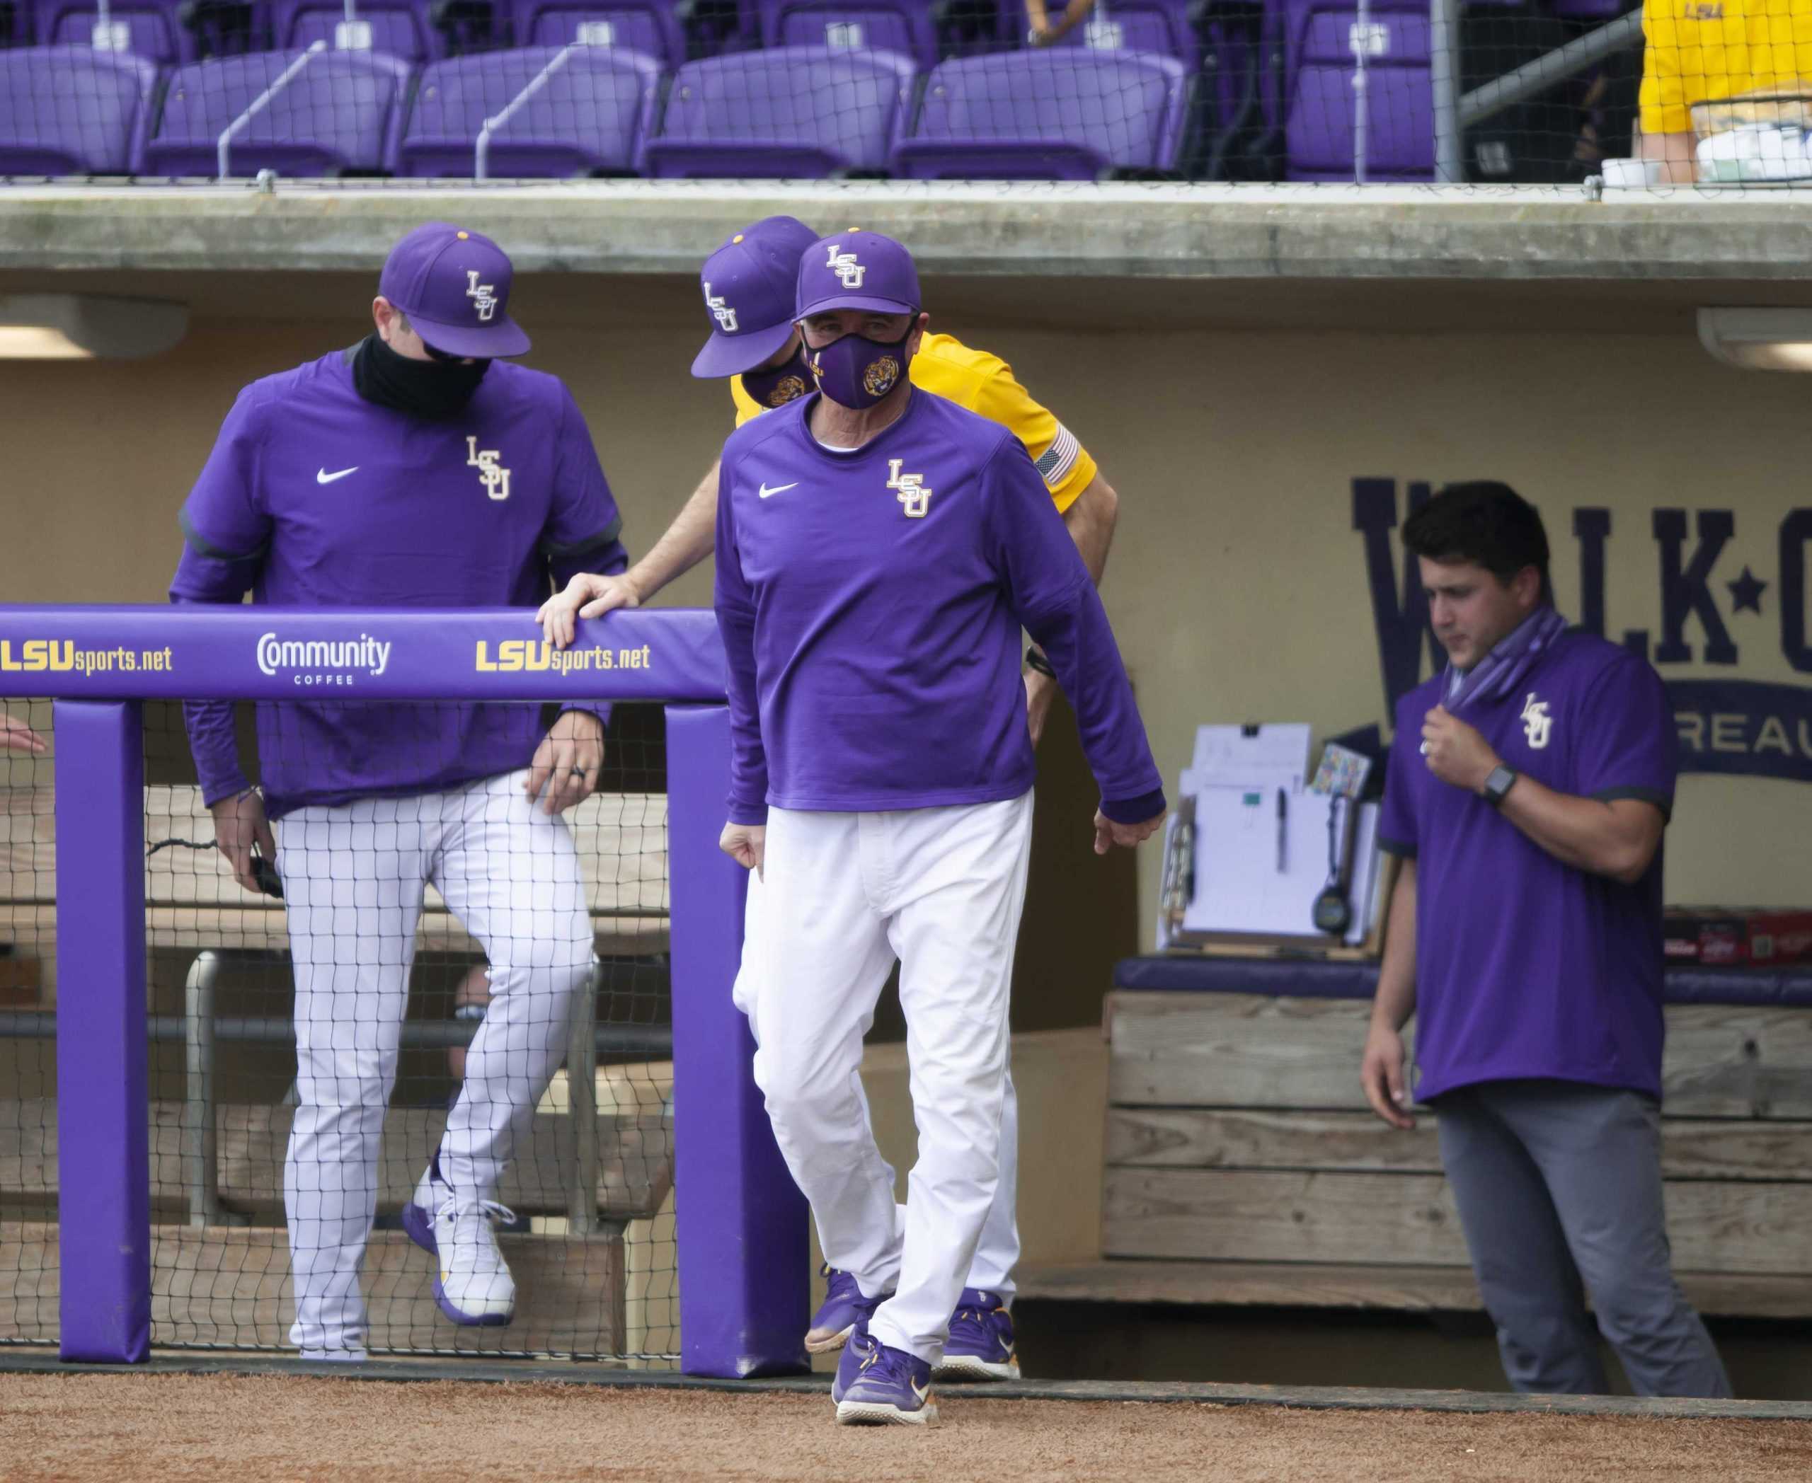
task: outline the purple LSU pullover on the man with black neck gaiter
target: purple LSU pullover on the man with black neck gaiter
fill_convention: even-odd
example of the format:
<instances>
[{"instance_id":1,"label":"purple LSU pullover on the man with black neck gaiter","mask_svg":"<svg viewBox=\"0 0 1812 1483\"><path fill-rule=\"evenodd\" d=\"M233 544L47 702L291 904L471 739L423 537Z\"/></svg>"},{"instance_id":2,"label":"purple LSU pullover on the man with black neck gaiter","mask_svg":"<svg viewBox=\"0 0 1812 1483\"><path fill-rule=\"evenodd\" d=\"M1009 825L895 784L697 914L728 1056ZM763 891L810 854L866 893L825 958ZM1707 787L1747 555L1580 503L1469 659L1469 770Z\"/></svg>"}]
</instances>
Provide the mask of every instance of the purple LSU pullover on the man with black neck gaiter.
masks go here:
<instances>
[{"instance_id":1,"label":"purple LSU pullover on the man with black neck gaiter","mask_svg":"<svg viewBox=\"0 0 1812 1483\"><path fill-rule=\"evenodd\" d=\"M237 603L250 590L255 603L303 608L535 608L549 581L627 565L573 395L507 360L446 420L366 402L348 351L252 382L181 527L176 603ZM272 614L279 637L281 627ZM544 735L536 704L361 703L359 677L350 665L299 684L295 704L257 706L272 817L525 768ZM245 788L232 706L192 703L185 719L203 799Z\"/></svg>"}]
</instances>

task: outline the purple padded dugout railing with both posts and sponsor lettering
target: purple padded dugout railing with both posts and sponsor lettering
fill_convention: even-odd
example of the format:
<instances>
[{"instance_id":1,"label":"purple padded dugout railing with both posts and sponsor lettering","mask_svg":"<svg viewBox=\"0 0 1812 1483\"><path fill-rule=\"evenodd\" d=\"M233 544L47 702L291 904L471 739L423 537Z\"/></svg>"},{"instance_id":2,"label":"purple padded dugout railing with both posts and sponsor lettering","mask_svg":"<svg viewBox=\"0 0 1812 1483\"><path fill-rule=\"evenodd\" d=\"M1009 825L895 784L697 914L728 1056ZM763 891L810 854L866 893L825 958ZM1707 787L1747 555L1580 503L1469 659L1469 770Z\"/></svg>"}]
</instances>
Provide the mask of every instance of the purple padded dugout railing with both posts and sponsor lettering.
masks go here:
<instances>
[{"instance_id":1,"label":"purple padded dugout railing with both posts and sponsor lettering","mask_svg":"<svg viewBox=\"0 0 1812 1483\"><path fill-rule=\"evenodd\" d=\"M710 612L616 612L578 652L636 663L496 670L527 612L315 612L230 607L0 607L0 697L56 703L58 1240L65 1360L141 1362L150 1345L150 1152L145 1025L145 699L294 699L261 663L281 641L390 645L371 701L667 701L674 1157L680 1349L692 1374L806 1367L806 1210L754 1085L748 1021L730 1000L747 876L723 851L730 730ZM125 659L130 657L130 666Z\"/></svg>"}]
</instances>

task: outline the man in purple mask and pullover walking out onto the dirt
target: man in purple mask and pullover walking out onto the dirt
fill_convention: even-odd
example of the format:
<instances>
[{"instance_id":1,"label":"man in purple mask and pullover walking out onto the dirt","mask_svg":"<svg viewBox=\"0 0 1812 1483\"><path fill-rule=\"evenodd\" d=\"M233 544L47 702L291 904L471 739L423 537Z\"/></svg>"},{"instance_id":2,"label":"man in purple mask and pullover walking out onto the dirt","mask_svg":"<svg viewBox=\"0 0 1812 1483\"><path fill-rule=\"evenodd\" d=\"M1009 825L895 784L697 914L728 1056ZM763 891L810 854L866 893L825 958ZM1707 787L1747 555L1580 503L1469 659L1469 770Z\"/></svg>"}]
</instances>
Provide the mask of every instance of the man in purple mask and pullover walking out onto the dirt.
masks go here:
<instances>
[{"instance_id":1,"label":"man in purple mask and pullover walking out onto the dirt","mask_svg":"<svg viewBox=\"0 0 1812 1483\"><path fill-rule=\"evenodd\" d=\"M817 393L730 436L718 498L721 844L765 898L737 1001L824 1260L864 1302L839 1421L935 1418L931 1367L995 1202L1031 844L1020 627L1076 706L1102 788L1094 849L1163 818L1089 570L1024 444L913 387L919 310L899 243L808 248L795 317ZM895 958L919 1124L904 1220L859 1079Z\"/></svg>"}]
</instances>

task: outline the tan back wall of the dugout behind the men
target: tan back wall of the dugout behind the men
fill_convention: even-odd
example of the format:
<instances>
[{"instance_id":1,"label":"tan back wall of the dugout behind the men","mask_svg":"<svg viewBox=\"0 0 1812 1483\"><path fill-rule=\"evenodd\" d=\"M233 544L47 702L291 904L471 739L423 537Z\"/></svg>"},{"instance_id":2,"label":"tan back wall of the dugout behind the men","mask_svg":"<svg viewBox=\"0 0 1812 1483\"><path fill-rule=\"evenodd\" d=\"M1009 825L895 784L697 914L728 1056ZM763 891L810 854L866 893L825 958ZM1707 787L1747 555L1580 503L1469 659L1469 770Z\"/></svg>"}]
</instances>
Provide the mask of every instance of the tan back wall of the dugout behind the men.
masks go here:
<instances>
[{"instance_id":1,"label":"tan back wall of the dugout behind the men","mask_svg":"<svg viewBox=\"0 0 1812 1483\"><path fill-rule=\"evenodd\" d=\"M569 328L524 311L536 335L531 364L573 384L627 540L645 549L725 431L721 389L685 375L699 337L692 290L547 282L558 292L544 302L558 302ZM518 293L524 306L533 286ZM176 509L234 391L355 339L359 297L339 275L294 275L268 295L198 310L183 346L154 362L0 364L0 596L161 599ZM946 328L1009 357L1122 493L1107 605L1172 780L1201 721L1301 719L1326 733L1386 719L1354 476L1517 483L1547 512L1567 610L1578 601L1571 511L1609 507L1613 634L1660 625L1651 509L1732 509L1738 531L1712 590L1740 663L1669 675L1796 677L1781 657L1776 527L1803 498L1807 382L1716 366L1683 315L1674 333L1642 335L1167 331L1161 315L1109 333L1051 328L1062 304L1040 328L989 322L975 310L986 299L964 297L971 313ZM237 317L274 301L295 317ZM930 302L937 310L935 284ZM1102 306L1093 310L1098 322ZM1770 583L1759 617L1730 616L1723 596L1745 563ZM707 599L708 569L667 594ZM1687 639L1700 648L1696 623ZM1687 779L1671 900L1803 902L1805 797L1778 780ZM1154 855L1142 864L1149 923Z\"/></svg>"}]
</instances>

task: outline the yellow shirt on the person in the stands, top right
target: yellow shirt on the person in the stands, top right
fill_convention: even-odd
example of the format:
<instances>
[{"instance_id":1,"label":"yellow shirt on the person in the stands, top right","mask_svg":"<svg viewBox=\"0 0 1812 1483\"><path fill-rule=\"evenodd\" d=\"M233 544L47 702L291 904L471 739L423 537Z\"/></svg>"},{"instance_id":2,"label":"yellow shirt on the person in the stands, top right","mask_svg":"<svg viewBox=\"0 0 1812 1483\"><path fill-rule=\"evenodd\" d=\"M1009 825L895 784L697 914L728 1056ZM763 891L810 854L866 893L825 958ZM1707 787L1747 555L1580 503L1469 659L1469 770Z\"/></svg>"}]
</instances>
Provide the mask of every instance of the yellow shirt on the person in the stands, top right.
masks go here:
<instances>
[{"instance_id":1,"label":"yellow shirt on the person in the stands, top right","mask_svg":"<svg viewBox=\"0 0 1812 1483\"><path fill-rule=\"evenodd\" d=\"M1812 91L1812 0L1649 0L1642 132L1692 129L1692 105Z\"/></svg>"}]
</instances>

